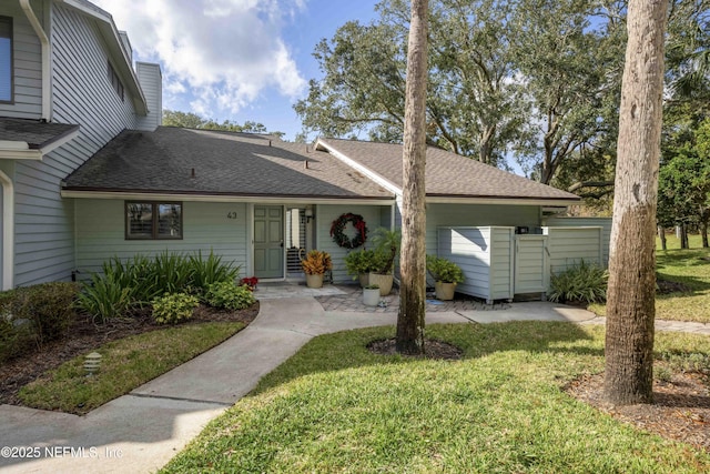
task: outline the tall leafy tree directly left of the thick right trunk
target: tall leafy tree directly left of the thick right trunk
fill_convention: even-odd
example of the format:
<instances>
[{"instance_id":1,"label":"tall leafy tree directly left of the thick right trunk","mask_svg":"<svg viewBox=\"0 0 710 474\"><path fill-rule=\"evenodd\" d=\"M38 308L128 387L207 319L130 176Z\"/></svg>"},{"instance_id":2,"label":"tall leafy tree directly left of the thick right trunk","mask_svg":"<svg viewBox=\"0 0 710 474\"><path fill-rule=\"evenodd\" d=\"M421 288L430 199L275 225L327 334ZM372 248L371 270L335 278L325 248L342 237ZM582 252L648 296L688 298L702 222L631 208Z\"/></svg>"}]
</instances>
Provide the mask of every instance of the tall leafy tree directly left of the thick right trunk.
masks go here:
<instances>
[{"instance_id":1,"label":"tall leafy tree directly left of the thick right trunk","mask_svg":"<svg viewBox=\"0 0 710 474\"><path fill-rule=\"evenodd\" d=\"M623 38L616 21L600 21L595 3L517 0L510 19L519 80L531 114L530 140L518 161L546 184L575 154L604 154L616 137ZM594 180L580 180L594 181Z\"/></svg>"}]
</instances>

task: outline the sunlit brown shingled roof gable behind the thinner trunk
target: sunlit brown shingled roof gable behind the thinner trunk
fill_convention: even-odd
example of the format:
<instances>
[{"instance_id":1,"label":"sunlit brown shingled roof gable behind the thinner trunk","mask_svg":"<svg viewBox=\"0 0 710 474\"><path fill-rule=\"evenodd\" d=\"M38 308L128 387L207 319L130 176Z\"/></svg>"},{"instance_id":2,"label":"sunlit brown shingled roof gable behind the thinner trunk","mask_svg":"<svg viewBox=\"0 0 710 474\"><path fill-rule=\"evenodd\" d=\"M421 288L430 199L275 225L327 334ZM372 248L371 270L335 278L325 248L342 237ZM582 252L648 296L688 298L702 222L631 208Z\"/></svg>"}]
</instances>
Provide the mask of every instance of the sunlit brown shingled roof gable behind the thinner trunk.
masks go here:
<instances>
[{"instance_id":1,"label":"sunlit brown shingled roof gable behind the thinner trunk","mask_svg":"<svg viewBox=\"0 0 710 474\"><path fill-rule=\"evenodd\" d=\"M390 190L402 191L400 144L341 139L318 139L327 150L371 170ZM575 203L579 196L528 180L495 167L429 147L426 153L427 198L536 200Z\"/></svg>"}]
</instances>

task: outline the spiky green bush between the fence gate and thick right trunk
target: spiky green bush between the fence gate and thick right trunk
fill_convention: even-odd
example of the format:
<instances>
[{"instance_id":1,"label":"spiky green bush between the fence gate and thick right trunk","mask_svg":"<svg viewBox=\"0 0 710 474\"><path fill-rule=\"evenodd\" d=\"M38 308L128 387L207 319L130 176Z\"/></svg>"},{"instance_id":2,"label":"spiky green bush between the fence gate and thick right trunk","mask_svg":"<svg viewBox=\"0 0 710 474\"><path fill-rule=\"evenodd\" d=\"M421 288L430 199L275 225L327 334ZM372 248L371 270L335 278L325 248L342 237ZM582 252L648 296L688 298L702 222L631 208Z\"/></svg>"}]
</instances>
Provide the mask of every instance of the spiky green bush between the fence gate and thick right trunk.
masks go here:
<instances>
[{"instance_id":1,"label":"spiky green bush between the fence gate and thick right trunk","mask_svg":"<svg viewBox=\"0 0 710 474\"><path fill-rule=\"evenodd\" d=\"M548 300L562 303L568 301L584 303L606 301L608 278L609 273L605 269L581 260L579 264L570 266L561 273L552 273Z\"/></svg>"}]
</instances>

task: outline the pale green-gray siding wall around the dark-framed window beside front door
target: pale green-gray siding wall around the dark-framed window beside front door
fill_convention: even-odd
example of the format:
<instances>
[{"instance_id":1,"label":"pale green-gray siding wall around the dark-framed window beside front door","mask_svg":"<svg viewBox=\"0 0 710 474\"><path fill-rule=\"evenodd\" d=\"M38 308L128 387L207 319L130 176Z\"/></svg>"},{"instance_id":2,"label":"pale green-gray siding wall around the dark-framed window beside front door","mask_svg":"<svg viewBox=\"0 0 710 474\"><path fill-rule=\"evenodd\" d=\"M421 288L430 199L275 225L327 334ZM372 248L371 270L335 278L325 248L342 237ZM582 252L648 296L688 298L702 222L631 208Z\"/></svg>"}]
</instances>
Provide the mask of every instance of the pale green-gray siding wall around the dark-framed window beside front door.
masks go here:
<instances>
[{"instance_id":1,"label":"pale green-gray siding wall around the dark-framed window beside front door","mask_svg":"<svg viewBox=\"0 0 710 474\"><path fill-rule=\"evenodd\" d=\"M101 271L101 264L113 256L126 260L138 253L153 255L165 250L186 254L201 250L203 255L212 250L223 262L241 265L245 275L246 204L183 202L182 240L125 240L123 209L120 200L75 200L77 268L82 278ZM232 212L236 219L227 218Z\"/></svg>"}]
</instances>

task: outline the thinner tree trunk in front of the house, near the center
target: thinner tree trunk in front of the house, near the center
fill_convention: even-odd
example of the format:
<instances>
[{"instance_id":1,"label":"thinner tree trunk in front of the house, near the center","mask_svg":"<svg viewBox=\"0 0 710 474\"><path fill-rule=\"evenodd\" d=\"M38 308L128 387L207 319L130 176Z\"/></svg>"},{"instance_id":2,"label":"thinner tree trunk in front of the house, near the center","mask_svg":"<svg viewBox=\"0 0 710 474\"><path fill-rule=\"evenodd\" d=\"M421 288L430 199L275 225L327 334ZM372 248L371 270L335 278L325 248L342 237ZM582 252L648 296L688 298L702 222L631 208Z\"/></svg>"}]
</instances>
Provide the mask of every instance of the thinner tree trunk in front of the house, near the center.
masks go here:
<instances>
[{"instance_id":1,"label":"thinner tree trunk in front of the house, near the center","mask_svg":"<svg viewBox=\"0 0 710 474\"><path fill-rule=\"evenodd\" d=\"M428 0L412 1L405 95L397 352L424 354L426 311L426 75Z\"/></svg>"}]
</instances>

